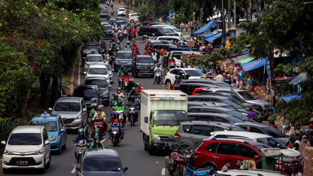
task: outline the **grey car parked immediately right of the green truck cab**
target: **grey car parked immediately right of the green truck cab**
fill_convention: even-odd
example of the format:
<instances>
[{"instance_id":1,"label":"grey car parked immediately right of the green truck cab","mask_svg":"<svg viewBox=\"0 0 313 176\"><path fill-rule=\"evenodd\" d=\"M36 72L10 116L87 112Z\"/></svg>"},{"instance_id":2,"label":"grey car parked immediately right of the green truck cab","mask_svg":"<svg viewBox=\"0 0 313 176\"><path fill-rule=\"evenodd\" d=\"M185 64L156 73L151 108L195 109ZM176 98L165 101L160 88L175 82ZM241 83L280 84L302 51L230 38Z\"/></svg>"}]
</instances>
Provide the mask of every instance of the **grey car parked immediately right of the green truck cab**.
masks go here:
<instances>
[{"instance_id":1,"label":"grey car parked immediately right of the green truck cab","mask_svg":"<svg viewBox=\"0 0 313 176\"><path fill-rule=\"evenodd\" d=\"M229 123L212 121L188 121L180 122L174 135L173 149L183 147L199 147L203 139L209 138L211 132L236 131L245 132L240 127Z\"/></svg>"}]
</instances>

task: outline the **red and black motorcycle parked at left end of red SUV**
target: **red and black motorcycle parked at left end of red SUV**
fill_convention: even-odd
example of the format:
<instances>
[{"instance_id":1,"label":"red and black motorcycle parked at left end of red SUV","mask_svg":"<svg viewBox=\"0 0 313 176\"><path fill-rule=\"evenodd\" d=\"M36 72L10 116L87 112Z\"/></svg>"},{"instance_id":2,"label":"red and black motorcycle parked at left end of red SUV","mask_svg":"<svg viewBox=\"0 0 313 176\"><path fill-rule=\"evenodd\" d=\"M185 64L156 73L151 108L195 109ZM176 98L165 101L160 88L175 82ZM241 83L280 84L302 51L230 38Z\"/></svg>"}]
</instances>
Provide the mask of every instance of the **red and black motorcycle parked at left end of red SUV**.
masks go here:
<instances>
[{"instance_id":1,"label":"red and black motorcycle parked at left end of red SUV","mask_svg":"<svg viewBox=\"0 0 313 176\"><path fill-rule=\"evenodd\" d=\"M173 150L170 158L165 160L165 167L170 175L181 176L185 165L193 164L194 149Z\"/></svg>"}]
</instances>

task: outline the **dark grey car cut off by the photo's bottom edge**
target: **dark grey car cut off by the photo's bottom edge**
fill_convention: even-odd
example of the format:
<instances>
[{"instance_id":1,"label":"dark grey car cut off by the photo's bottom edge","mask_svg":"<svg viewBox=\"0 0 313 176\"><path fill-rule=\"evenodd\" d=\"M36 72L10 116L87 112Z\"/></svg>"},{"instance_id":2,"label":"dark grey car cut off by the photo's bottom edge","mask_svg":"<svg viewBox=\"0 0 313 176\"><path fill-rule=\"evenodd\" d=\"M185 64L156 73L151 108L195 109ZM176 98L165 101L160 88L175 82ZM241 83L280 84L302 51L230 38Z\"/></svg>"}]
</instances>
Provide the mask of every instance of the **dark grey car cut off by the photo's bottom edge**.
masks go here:
<instances>
[{"instance_id":1,"label":"dark grey car cut off by the photo's bottom edge","mask_svg":"<svg viewBox=\"0 0 313 176\"><path fill-rule=\"evenodd\" d=\"M76 166L77 176L124 176L121 159L112 149L87 149Z\"/></svg>"}]
</instances>

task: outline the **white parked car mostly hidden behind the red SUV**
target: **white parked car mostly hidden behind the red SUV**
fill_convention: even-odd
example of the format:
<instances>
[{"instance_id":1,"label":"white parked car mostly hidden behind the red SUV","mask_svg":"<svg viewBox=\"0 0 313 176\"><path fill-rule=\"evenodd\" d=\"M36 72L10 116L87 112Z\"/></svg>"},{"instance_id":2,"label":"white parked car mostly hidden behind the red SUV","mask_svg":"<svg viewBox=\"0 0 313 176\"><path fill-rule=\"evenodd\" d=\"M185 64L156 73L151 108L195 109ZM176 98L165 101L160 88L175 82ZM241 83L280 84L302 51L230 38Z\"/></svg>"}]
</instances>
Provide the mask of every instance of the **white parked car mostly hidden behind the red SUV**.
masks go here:
<instances>
[{"instance_id":1,"label":"white parked car mostly hidden behind the red SUV","mask_svg":"<svg viewBox=\"0 0 313 176\"><path fill-rule=\"evenodd\" d=\"M247 138L247 139L256 139L258 142L264 143L273 148L279 148L284 155L295 157L299 160L302 160L303 156L300 152L289 149L284 144L279 142L277 139L261 133L256 132L211 132L211 136L209 139L212 138Z\"/></svg>"}]
</instances>

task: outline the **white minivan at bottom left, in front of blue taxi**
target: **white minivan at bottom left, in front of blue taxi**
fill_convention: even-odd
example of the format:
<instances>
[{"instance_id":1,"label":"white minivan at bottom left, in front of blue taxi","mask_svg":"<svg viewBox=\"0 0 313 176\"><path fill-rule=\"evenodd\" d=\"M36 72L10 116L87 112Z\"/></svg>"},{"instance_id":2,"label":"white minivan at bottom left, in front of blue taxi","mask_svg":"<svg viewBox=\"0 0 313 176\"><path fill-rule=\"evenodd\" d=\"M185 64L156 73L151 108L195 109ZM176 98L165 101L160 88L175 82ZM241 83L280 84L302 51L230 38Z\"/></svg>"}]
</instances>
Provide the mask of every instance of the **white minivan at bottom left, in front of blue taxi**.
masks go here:
<instances>
[{"instance_id":1,"label":"white minivan at bottom left, in front of blue taxi","mask_svg":"<svg viewBox=\"0 0 313 176\"><path fill-rule=\"evenodd\" d=\"M49 136L43 126L19 126L10 134L2 156L3 173L9 169L41 169L50 167Z\"/></svg>"}]
</instances>

